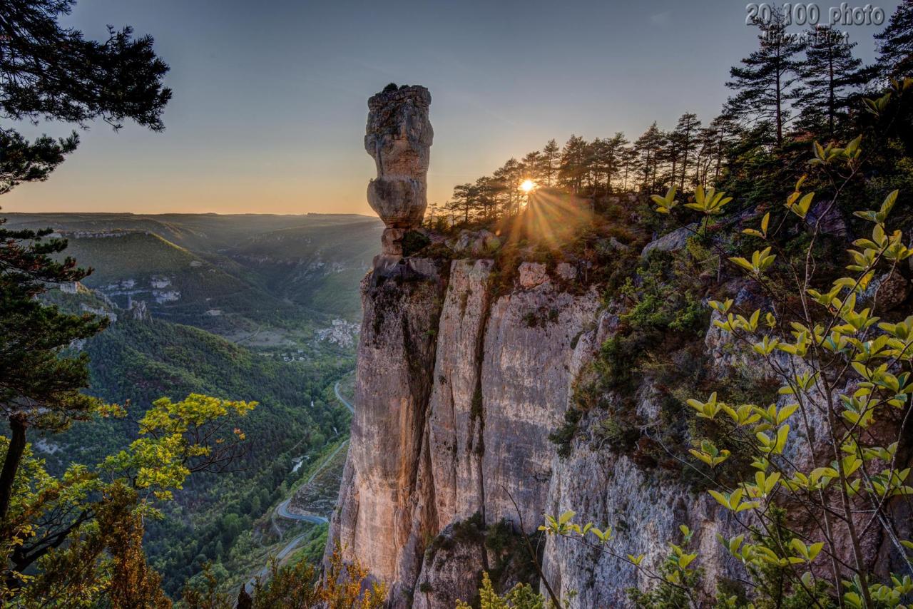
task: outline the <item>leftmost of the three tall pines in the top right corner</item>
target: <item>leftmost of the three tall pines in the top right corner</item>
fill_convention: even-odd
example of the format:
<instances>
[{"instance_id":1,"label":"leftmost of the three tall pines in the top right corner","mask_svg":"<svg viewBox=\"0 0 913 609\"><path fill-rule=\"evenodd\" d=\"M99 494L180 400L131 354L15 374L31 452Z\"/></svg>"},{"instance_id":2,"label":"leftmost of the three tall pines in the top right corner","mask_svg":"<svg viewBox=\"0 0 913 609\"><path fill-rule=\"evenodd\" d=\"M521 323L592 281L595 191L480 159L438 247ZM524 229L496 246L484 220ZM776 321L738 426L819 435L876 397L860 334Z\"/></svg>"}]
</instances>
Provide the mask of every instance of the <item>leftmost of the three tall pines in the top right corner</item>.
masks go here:
<instances>
[{"instance_id":1,"label":"leftmost of the three tall pines in the top right corner","mask_svg":"<svg viewBox=\"0 0 913 609\"><path fill-rule=\"evenodd\" d=\"M745 121L772 121L777 146L783 142L783 127L789 121L793 84L798 79L798 56L804 44L786 32L782 10L774 9L769 22L755 21L761 30L760 48L729 70L726 83L736 94L729 98L729 113Z\"/></svg>"}]
</instances>

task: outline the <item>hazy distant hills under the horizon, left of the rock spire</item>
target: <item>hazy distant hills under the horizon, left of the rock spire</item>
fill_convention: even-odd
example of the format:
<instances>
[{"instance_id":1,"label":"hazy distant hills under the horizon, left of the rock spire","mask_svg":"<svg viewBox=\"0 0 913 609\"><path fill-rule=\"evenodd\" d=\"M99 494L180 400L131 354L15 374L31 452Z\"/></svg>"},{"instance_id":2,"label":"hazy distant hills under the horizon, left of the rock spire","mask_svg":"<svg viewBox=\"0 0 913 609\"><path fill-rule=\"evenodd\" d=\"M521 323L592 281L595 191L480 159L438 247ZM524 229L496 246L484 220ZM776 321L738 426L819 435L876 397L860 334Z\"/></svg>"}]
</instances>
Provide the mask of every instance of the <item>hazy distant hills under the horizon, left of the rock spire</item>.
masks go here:
<instances>
[{"instance_id":1,"label":"hazy distant hills under the horizon, left of the rock spire","mask_svg":"<svg viewBox=\"0 0 913 609\"><path fill-rule=\"evenodd\" d=\"M121 308L257 348L300 347L334 319L361 318L359 280L383 225L363 215L9 214L52 227L94 268L84 283Z\"/></svg>"}]
</instances>

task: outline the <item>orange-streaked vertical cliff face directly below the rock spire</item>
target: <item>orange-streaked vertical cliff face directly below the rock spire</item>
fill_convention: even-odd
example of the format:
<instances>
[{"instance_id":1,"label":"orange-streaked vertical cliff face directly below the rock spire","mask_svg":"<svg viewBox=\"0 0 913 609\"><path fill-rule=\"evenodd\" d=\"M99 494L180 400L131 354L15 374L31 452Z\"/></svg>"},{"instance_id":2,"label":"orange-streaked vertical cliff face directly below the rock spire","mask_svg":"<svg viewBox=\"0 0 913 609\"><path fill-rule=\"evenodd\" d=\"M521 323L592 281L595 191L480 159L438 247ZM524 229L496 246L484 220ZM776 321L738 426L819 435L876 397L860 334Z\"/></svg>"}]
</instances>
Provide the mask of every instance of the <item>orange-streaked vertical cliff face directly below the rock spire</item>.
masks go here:
<instances>
[{"instance_id":1,"label":"orange-streaked vertical cliff face directly below the rock spire","mask_svg":"<svg viewBox=\"0 0 913 609\"><path fill-rule=\"evenodd\" d=\"M455 562L425 564L426 546L476 513L538 527L552 478L548 436L599 299L564 291L541 265L494 294L490 260L448 269L404 260L362 284L357 407L331 543L391 584L394 606L450 607L456 592L418 594L454 580ZM462 555L485 566L477 551ZM470 592L477 572L459 580Z\"/></svg>"}]
</instances>

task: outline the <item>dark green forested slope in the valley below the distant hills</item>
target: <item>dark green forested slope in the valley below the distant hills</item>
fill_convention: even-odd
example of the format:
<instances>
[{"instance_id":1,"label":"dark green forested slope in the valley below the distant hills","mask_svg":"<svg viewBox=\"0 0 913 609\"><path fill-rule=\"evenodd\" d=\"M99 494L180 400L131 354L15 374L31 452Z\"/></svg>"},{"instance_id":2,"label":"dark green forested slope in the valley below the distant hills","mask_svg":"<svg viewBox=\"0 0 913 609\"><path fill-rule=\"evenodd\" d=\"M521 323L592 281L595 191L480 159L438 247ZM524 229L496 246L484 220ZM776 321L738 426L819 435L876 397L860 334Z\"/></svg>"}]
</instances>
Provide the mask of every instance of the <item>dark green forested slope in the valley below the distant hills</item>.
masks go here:
<instances>
[{"instance_id":1,"label":"dark green forested slope in the valley below the distant hills","mask_svg":"<svg viewBox=\"0 0 913 609\"><path fill-rule=\"evenodd\" d=\"M224 565L218 571L223 577L246 575L249 565L238 557L252 550L255 521L304 473L292 471L295 461L319 455L348 430L349 412L331 398L331 386L352 370L352 349L315 342L286 362L192 326L154 316L134 319L130 310L111 307L88 289L53 290L47 300L62 310L85 306L116 317L81 351L89 355L88 393L129 404L130 415L36 438L52 473L72 462L97 463L129 444L135 439L130 419L159 397L195 393L259 404L239 423L246 450L230 471L191 478L165 509L165 519L150 521L146 532L150 562L162 572L168 593L179 594L208 562ZM236 547L239 538L242 547Z\"/></svg>"}]
</instances>

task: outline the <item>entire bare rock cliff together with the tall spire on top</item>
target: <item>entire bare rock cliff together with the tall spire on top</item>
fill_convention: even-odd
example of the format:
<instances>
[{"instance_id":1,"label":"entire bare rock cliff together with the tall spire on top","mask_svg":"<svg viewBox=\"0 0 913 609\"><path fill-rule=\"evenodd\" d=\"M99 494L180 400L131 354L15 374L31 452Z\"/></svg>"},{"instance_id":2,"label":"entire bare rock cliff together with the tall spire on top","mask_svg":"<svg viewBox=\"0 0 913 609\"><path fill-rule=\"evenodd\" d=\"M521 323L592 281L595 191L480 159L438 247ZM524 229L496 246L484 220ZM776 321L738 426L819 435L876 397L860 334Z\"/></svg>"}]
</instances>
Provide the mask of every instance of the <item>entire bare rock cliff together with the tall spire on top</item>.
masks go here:
<instances>
[{"instance_id":1,"label":"entire bare rock cliff together with the tall spire on top","mask_svg":"<svg viewBox=\"0 0 913 609\"><path fill-rule=\"evenodd\" d=\"M663 446L663 432L675 428L684 444L674 450L687 454L692 434L687 415L663 408L670 391L661 378L642 366L636 383L598 385L597 398L590 395L582 410L575 408L578 389L592 387L593 375L604 372L595 364L619 331L624 309L624 297L590 278L593 263L560 251L560 242L551 244L549 257L561 262L521 261L536 253L516 243L518 256L496 262L486 257L499 247L488 231L464 231L445 242L418 229L432 139L429 104L426 89L395 85L369 103L365 148L378 176L368 197L387 228L383 253L362 281L356 409L327 550L339 544L346 560L357 559L387 583L392 607L449 609L477 595L483 571L493 573L502 590L536 579L518 531L535 533L543 514L573 509L577 521L611 525L614 550L643 554L652 569L669 542L679 541L679 525L687 525L689 548L698 551L706 575L700 585L708 586L697 591L700 598L709 598L719 582L744 579L718 541L740 532L731 513L704 492L706 483L688 479L692 470ZM580 208L560 207L552 224L569 224ZM542 224L547 210L535 211ZM518 226L520 233L522 222ZM410 233L431 244L425 251L445 255L403 256L415 236ZM605 243L614 255L631 251L614 237ZM646 245L641 257L685 245L685 236L670 233ZM629 255L626 264L635 258ZM737 304L761 304L743 280L719 288ZM763 366L712 321L703 344L699 332L690 331L692 349L655 353L663 360L655 369L675 367L666 383L728 382L739 364L751 391L766 384L775 393L779 382L759 376ZM799 370L803 363L782 365ZM826 412L820 401L811 404L807 429L824 437L824 415L814 414ZM594 406L606 403L611 407ZM550 436L561 431L570 408L574 428L556 444ZM636 437L635 446L630 439L628 446L612 445L618 435L612 426L620 424L627 425L623 435ZM641 450L641 443L648 448ZM807 464L807 455L785 457ZM896 521L909 527L908 513ZM814 529L813 522L793 524ZM834 532L838 547L845 543L840 535ZM870 564L878 561L886 573L897 567L887 541L878 534L864 541ZM652 585L644 572L592 546L560 537L537 543L544 543L545 581L572 599L572 607L624 606L631 603L628 589Z\"/></svg>"}]
</instances>

